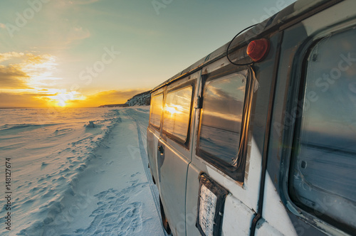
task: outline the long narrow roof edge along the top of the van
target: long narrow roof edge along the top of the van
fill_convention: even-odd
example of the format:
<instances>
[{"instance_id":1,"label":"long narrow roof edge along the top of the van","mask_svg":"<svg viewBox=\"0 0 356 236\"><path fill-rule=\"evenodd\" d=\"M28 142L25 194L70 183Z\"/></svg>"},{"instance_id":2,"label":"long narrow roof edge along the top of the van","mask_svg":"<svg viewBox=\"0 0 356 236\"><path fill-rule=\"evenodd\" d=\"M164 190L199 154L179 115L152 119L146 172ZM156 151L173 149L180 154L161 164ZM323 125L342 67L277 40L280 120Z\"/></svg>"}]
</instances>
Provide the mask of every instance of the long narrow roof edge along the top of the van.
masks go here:
<instances>
[{"instance_id":1,"label":"long narrow roof edge along the top of the van","mask_svg":"<svg viewBox=\"0 0 356 236\"><path fill-rule=\"evenodd\" d=\"M317 9L319 6L323 6L322 9L325 9L339 3L340 1L343 0L295 1L295 3L290 4L285 9L279 11L277 14L271 16L270 18L267 18L265 21L262 21L261 23L258 23L256 26L253 26L253 28L249 29L245 33L242 33L240 36L238 36L234 40L234 42L230 45L229 53L231 53L232 51L238 48L241 48L241 46L247 44L247 42L251 41L251 39L253 38L258 38L263 36L263 34L271 33L280 28L288 28L289 26L298 23L300 21L300 18L305 18L308 17L309 14L317 13L318 11L311 12L311 10ZM168 85L169 83L175 80L179 80L182 77L197 72L204 66L209 65L210 63L213 63L216 60L224 58L226 56L226 48L228 47L229 43L230 42L214 50L214 52L210 53L209 55L206 55L206 57L201 58L200 60L190 65L185 70L182 70L180 73L177 73L177 75L174 75L173 77L169 78L169 80L162 82L162 84L155 87L152 90L152 92L158 90L160 87L163 87L164 85Z\"/></svg>"}]
</instances>

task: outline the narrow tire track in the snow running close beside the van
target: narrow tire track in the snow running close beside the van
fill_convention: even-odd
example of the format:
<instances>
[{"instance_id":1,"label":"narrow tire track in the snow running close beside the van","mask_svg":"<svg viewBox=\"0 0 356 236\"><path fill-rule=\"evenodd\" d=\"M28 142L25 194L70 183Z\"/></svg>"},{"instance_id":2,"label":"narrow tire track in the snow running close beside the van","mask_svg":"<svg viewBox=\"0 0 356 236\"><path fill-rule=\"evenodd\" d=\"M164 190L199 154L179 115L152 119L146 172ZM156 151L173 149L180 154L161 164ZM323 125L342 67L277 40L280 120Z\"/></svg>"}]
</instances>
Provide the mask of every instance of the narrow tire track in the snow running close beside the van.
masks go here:
<instances>
[{"instance_id":1,"label":"narrow tire track in the snow running close beside the van","mask_svg":"<svg viewBox=\"0 0 356 236\"><path fill-rule=\"evenodd\" d=\"M151 172L147 168L147 166L148 166L147 150L145 149L145 145L143 144L143 141L142 141L142 136L144 136L144 135L142 135L142 132L141 132L141 129L140 129L140 123L137 121L137 119L135 119L135 117L132 116L132 114L130 114L131 113L130 111L133 111L133 110L134 109L132 109L132 108L125 109L125 114L127 114L127 116L130 119L132 119L132 121L135 122L135 124L136 124L137 136L138 136L138 144L139 144L140 156L141 156L141 159L142 159L143 168L145 169L145 174L146 174L146 177L147 177L147 181L150 183L149 184L150 191L151 191L153 200L155 202L155 207L156 207L157 213L158 213L158 215L160 217L161 210L160 210L160 207L159 207L158 190L157 190L156 186L154 185L154 183L152 182ZM162 220L159 220L159 222L162 225ZM164 230L163 225L162 225L162 230L164 232L164 235L167 236L166 230Z\"/></svg>"}]
</instances>

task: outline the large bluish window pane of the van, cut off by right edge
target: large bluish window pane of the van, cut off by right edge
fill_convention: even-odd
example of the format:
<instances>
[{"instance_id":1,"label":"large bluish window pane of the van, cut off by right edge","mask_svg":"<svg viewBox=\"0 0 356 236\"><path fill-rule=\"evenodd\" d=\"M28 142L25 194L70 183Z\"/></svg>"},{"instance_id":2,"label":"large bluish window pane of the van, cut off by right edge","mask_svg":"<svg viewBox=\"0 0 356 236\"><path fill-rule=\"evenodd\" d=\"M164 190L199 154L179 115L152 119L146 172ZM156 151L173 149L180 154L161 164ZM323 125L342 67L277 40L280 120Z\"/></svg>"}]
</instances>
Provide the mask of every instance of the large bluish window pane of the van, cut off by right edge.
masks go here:
<instances>
[{"instance_id":1,"label":"large bluish window pane of the van, cut off by right edge","mask_svg":"<svg viewBox=\"0 0 356 236\"><path fill-rule=\"evenodd\" d=\"M291 198L300 208L354 230L355 42L352 29L324 38L310 51L289 183Z\"/></svg>"}]
</instances>

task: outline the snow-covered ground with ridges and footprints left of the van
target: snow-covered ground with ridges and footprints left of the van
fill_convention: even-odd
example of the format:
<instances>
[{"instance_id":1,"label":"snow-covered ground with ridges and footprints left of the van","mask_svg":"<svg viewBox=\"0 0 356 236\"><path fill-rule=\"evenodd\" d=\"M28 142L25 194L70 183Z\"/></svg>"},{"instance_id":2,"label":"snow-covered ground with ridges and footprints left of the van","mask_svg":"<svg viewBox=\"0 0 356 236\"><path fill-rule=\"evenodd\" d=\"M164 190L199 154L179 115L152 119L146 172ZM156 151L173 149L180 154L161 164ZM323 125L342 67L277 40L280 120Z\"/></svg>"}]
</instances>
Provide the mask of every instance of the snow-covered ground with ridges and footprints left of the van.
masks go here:
<instances>
[{"instance_id":1,"label":"snow-covered ground with ridges and footprints left of the van","mask_svg":"<svg viewBox=\"0 0 356 236\"><path fill-rule=\"evenodd\" d=\"M0 173L11 157L12 192L11 210L0 198L0 235L164 235L147 168L149 107L53 113L0 111Z\"/></svg>"}]
</instances>

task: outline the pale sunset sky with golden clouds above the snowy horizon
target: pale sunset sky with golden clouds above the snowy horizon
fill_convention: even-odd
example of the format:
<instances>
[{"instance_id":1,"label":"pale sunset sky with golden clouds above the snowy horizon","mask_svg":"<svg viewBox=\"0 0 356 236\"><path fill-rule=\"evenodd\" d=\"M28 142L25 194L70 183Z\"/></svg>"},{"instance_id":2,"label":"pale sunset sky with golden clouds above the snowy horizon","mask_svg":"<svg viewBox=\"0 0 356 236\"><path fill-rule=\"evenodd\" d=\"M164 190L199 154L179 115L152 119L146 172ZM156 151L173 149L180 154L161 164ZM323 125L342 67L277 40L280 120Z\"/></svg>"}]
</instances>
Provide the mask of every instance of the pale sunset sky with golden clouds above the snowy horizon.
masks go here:
<instances>
[{"instance_id":1,"label":"pale sunset sky with golden clouds above the snowy horizon","mask_svg":"<svg viewBox=\"0 0 356 236\"><path fill-rule=\"evenodd\" d=\"M293 0L0 3L0 107L124 103Z\"/></svg>"}]
</instances>

